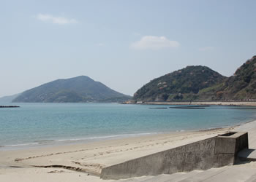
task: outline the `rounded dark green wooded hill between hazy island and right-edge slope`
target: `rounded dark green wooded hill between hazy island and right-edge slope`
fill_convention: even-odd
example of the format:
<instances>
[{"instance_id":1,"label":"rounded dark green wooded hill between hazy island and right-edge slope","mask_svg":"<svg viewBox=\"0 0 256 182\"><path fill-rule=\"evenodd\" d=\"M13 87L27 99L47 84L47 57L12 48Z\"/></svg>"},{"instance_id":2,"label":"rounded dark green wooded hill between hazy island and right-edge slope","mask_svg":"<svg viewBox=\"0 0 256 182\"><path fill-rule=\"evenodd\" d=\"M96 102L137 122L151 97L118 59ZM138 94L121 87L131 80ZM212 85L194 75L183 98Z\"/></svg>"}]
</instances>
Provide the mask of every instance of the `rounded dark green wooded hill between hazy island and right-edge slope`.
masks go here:
<instances>
[{"instance_id":1,"label":"rounded dark green wooded hill between hazy island and right-edge slope","mask_svg":"<svg viewBox=\"0 0 256 182\"><path fill-rule=\"evenodd\" d=\"M201 95L200 90L221 84L225 76L206 66L187 66L160 76L135 92L135 100L178 101L211 100L212 95Z\"/></svg>"}]
</instances>

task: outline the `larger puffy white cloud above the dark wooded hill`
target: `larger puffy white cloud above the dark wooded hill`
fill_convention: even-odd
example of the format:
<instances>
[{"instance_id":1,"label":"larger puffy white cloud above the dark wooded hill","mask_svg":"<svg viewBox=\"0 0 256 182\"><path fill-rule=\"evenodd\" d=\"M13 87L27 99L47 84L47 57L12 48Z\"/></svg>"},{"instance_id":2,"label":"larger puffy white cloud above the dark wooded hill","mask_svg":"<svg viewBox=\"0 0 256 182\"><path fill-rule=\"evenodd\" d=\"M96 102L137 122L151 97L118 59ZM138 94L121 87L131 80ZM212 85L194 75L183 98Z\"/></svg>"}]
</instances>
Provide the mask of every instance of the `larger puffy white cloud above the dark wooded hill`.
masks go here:
<instances>
[{"instance_id":1,"label":"larger puffy white cloud above the dark wooded hill","mask_svg":"<svg viewBox=\"0 0 256 182\"><path fill-rule=\"evenodd\" d=\"M178 41L170 41L165 36L143 36L130 47L135 50L160 50L165 47L179 47Z\"/></svg>"}]
</instances>

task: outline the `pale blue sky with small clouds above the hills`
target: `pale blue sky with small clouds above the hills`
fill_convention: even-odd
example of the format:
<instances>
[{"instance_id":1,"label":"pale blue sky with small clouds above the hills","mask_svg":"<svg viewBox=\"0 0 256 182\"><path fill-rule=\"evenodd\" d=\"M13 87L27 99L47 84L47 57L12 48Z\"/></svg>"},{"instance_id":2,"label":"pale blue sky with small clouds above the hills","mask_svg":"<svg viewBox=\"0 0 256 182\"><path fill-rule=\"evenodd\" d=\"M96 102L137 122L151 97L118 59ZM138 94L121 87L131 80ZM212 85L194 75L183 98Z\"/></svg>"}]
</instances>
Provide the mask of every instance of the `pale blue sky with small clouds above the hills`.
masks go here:
<instances>
[{"instance_id":1,"label":"pale blue sky with small clouds above the hills","mask_svg":"<svg viewBox=\"0 0 256 182\"><path fill-rule=\"evenodd\" d=\"M127 95L203 65L231 76L256 55L256 1L0 0L0 97L85 75Z\"/></svg>"}]
</instances>

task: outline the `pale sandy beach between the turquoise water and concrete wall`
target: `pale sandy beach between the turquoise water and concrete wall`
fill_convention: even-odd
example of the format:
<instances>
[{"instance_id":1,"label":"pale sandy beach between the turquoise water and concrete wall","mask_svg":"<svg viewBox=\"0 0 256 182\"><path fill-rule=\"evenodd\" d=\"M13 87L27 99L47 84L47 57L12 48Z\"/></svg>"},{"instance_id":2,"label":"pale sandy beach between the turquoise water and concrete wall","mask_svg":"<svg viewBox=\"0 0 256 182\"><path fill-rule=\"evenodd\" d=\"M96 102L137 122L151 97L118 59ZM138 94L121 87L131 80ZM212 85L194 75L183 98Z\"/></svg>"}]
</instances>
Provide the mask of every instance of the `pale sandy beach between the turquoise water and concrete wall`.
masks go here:
<instances>
[{"instance_id":1,"label":"pale sandy beach between the turquoise water and concrete wall","mask_svg":"<svg viewBox=\"0 0 256 182\"><path fill-rule=\"evenodd\" d=\"M248 124L255 126L256 121ZM243 129L242 126L0 151L0 181L103 181L99 178L103 167L200 141L230 130L252 128L245 126Z\"/></svg>"}]
</instances>

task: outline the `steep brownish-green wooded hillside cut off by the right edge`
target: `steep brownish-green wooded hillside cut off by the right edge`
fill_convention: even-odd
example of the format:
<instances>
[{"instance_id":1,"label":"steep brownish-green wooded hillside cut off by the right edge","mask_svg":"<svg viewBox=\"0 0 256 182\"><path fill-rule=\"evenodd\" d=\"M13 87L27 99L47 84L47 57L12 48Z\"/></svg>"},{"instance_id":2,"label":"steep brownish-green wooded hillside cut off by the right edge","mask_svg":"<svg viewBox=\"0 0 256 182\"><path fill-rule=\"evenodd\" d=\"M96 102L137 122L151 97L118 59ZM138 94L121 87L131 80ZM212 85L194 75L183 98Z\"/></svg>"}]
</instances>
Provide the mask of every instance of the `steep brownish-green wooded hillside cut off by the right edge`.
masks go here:
<instances>
[{"instance_id":1,"label":"steep brownish-green wooded hillside cut off by the right edge","mask_svg":"<svg viewBox=\"0 0 256 182\"><path fill-rule=\"evenodd\" d=\"M256 99L256 56L247 60L233 76L219 84L214 92L209 88L207 94L213 94L216 100Z\"/></svg>"}]
</instances>

